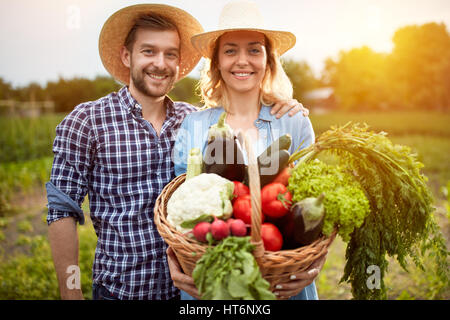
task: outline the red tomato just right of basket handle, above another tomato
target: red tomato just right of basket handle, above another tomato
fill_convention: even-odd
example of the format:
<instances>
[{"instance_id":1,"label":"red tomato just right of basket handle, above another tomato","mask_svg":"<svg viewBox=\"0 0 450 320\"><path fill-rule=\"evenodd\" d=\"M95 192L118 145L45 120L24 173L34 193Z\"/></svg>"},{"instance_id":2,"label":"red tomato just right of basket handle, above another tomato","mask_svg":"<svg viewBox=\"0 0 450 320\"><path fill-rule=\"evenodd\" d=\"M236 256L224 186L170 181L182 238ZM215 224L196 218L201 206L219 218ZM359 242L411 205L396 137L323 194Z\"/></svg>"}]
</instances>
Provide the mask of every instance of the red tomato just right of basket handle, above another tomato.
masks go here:
<instances>
[{"instance_id":1,"label":"red tomato just right of basket handle, above another tomato","mask_svg":"<svg viewBox=\"0 0 450 320\"><path fill-rule=\"evenodd\" d=\"M289 212L292 195L286 186L279 182L265 185L261 190L261 207L265 215L280 218Z\"/></svg>"}]
</instances>

